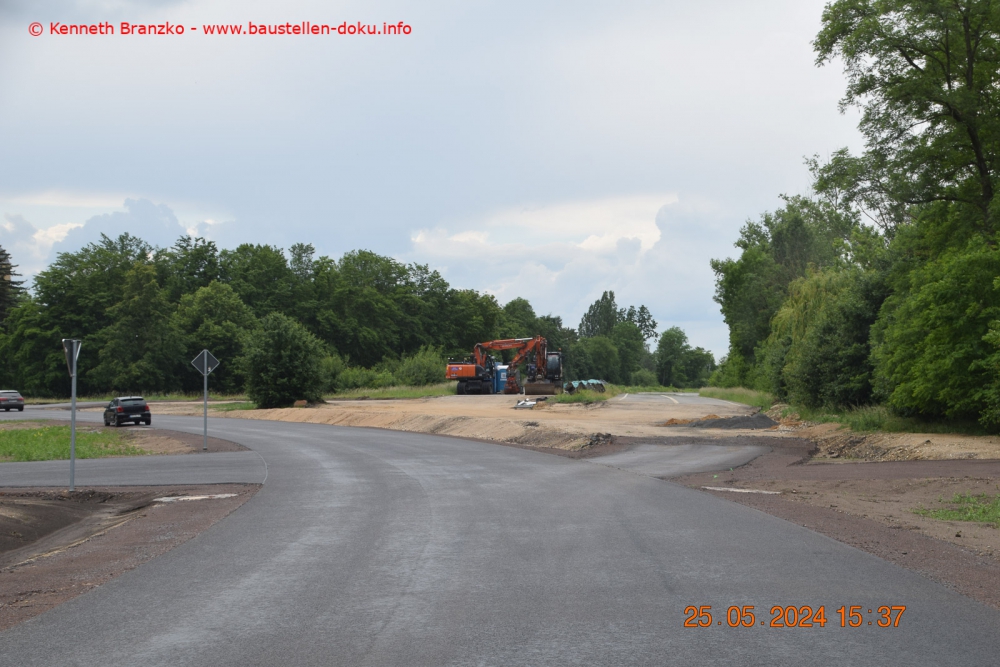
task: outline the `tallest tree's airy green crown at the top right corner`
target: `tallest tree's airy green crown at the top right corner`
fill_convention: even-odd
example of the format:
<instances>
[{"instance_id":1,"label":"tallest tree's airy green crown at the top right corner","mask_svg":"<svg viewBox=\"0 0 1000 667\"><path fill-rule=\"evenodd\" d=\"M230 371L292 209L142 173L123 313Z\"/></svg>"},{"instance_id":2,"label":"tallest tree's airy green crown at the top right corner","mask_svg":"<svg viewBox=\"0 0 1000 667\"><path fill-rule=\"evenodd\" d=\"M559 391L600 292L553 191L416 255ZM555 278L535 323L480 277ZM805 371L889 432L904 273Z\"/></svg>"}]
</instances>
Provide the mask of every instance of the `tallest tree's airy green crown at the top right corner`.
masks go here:
<instances>
[{"instance_id":1,"label":"tallest tree's airy green crown at the top right corner","mask_svg":"<svg viewBox=\"0 0 1000 667\"><path fill-rule=\"evenodd\" d=\"M822 175L888 229L907 207L961 202L995 231L1000 167L1000 11L993 0L836 0L813 42L839 58L841 108L862 110L865 152Z\"/></svg>"}]
</instances>

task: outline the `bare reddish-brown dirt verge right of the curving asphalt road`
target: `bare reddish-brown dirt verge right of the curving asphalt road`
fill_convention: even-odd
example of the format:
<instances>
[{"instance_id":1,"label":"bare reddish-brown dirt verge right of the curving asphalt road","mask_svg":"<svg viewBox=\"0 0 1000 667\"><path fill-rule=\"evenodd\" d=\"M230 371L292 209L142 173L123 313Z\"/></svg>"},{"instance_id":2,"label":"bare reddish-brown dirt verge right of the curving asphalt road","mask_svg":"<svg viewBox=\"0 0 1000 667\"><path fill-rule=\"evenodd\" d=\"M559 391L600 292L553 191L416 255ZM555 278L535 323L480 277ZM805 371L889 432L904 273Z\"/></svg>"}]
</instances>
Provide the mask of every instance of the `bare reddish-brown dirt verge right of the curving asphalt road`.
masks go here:
<instances>
[{"instance_id":1,"label":"bare reddish-brown dirt verge right of the curving asphalt road","mask_svg":"<svg viewBox=\"0 0 1000 667\"><path fill-rule=\"evenodd\" d=\"M956 493L1000 493L1000 460L816 462L773 450L722 473L674 481L805 526L1000 608L1000 530L914 513ZM941 502L943 501L943 502ZM819 565L819 564L818 564Z\"/></svg>"}]
</instances>

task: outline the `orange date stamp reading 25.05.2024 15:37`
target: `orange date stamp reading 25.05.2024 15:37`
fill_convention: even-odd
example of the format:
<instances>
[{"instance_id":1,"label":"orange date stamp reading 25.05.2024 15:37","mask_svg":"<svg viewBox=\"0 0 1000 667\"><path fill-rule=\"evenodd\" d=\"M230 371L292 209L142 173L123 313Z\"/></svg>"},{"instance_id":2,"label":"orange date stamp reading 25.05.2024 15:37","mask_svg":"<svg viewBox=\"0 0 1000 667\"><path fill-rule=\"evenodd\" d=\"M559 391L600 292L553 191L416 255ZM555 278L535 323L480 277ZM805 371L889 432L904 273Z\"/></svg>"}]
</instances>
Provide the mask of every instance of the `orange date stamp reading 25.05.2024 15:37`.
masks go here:
<instances>
[{"instance_id":1,"label":"orange date stamp reading 25.05.2024 15:37","mask_svg":"<svg viewBox=\"0 0 1000 667\"><path fill-rule=\"evenodd\" d=\"M757 614L754 613L753 605L739 607L731 605L726 609L725 621L713 617L712 605L697 607L689 605L684 608L684 627L710 628L712 626L728 626L730 628L755 628L765 626L770 628L825 628L827 623L830 623L831 627L839 625L842 628L860 628L869 625L878 628L898 628L904 611L906 611L906 605L872 607L865 605L844 605L833 613L831 616L832 621L827 621L826 605L820 605L815 609L809 605L801 607L795 605L775 605L771 607L770 612L758 624ZM770 618L768 619L768 617Z\"/></svg>"}]
</instances>

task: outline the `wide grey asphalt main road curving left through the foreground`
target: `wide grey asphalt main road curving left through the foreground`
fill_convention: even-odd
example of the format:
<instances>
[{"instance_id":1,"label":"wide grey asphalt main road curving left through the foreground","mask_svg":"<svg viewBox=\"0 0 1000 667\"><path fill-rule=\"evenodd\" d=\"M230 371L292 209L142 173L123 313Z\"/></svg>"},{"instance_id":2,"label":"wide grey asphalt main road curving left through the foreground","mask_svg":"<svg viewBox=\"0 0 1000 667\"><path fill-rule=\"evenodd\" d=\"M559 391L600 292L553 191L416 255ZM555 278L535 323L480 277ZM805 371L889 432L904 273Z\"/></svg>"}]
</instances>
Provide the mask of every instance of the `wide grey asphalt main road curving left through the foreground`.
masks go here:
<instances>
[{"instance_id":1,"label":"wide grey asphalt main road curving left through the foreground","mask_svg":"<svg viewBox=\"0 0 1000 667\"><path fill-rule=\"evenodd\" d=\"M670 482L423 434L210 428L263 456L262 490L0 633L0 665L996 663L1000 613ZM711 605L712 624L684 628L689 605ZM754 626L728 627L729 605L754 605ZM773 605L825 605L826 626L761 625ZM860 627L840 627L842 605ZM881 605L906 605L898 627L875 625Z\"/></svg>"}]
</instances>

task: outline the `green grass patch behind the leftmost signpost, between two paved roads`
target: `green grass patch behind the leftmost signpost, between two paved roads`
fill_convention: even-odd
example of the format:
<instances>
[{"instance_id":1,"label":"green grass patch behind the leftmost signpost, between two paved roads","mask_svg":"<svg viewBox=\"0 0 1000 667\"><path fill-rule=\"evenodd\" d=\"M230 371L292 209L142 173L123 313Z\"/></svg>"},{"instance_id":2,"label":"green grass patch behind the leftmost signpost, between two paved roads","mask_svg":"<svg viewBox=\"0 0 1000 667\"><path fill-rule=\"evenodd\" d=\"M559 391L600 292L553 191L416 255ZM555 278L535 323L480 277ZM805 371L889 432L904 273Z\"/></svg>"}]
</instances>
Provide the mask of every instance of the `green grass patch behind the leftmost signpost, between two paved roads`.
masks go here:
<instances>
[{"instance_id":1,"label":"green grass patch behind the leftmost signpost, between two paved roads","mask_svg":"<svg viewBox=\"0 0 1000 667\"><path fill-rule=\"evenodd\" d=\"M56 461L69 458L69 426L40 426L0 431L0 461ZM141 456L138 447L125 441L124 434L85 431L77 428L76 457L97 459L105 456Z\"/></svg>"}]
</instances>

